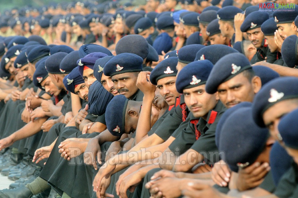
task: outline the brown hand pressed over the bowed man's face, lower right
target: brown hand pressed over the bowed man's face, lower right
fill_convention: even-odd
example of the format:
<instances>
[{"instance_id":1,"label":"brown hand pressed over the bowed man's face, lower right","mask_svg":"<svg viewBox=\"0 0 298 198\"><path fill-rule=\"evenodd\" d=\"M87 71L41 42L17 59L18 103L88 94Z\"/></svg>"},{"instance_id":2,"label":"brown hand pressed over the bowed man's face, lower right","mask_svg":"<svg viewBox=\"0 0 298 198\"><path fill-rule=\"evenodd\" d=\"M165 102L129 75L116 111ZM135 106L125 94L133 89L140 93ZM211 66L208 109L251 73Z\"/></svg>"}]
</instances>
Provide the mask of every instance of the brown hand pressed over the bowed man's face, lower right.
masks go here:
<instances>
[{"instance_id":1,"label":"brown hand pressed over the bowed man's face, lower right","mask_svg":"<svg viewBox=\"0 0 298 198\"><path fill-rule=\"evenodd\" d=\"M246 191L257 187L264 181L264 177L270 171L268 163L255 162L245 169L239 169L236 186L239 191Z\"/></svg>"}]
</instances>

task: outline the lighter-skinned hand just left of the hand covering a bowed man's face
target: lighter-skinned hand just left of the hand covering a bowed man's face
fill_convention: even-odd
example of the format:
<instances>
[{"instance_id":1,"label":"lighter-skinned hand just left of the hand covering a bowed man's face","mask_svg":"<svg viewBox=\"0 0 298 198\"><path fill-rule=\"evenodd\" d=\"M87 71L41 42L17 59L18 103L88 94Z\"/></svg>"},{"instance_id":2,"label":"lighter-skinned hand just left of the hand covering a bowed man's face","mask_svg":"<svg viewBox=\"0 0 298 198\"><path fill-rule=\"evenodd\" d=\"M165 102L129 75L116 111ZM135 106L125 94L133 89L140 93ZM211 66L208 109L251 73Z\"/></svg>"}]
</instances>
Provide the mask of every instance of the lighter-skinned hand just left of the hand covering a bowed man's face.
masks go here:
<instances>
[{"instance_id":1,"label":"lighter-skinned hand just left of the hand covering a bowed man's face","mask_svg":"<svg viewBox=\"0 0 298 198\"><path fill-rule=\"evenodd\" d=\"M211 171L212 180L219 186L227 186L231 177L231 171L224 160L216 162Z\"/></svg>"}]
</instances>

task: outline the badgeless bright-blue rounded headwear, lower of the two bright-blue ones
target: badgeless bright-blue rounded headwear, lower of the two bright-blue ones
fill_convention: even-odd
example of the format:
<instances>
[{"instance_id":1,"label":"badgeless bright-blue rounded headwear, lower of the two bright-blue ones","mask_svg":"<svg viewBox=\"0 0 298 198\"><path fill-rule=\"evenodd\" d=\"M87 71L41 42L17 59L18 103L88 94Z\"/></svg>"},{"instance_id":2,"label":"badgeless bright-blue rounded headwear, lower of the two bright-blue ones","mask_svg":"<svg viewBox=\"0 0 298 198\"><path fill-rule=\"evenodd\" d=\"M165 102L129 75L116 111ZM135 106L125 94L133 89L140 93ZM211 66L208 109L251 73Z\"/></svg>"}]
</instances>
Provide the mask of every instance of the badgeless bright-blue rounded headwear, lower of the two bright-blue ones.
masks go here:
<instances>
[{"instance_id":1,"label":"badgeless bright-blue rounded headwear, lower of the two bright-blue ones","mask_svg":"<svg viewBox=\"0 0 298 198\"><path fill-rule=\"evenodd\" d=\"M172 39L166 32L163 32L156 37L153 47L159 55L162 55L162 51L167 53L173 47Z\"/></svg>"}]
</instances>

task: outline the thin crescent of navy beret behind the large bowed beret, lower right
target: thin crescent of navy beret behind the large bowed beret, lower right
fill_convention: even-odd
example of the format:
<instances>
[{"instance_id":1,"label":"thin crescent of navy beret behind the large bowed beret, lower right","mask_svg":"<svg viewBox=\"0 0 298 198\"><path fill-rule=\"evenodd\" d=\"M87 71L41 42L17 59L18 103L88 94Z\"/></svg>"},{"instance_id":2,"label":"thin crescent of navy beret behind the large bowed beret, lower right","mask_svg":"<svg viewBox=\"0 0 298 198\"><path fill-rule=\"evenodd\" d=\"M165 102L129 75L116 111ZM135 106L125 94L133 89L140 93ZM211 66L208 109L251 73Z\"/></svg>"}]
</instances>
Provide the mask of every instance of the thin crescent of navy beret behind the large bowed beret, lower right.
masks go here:
<instances>
[{"instance_id":1,"label":"thin crescent of navy beret behind the large bowed beret, lower right","mask_svg":"<svg viewBox=\"0 0 298 198\"><path fill-rule=\"evenodd\" d=\"M234 107L231 107L227 109L224 114L221 116L221 119L218 121L218 124L216 125L215 129L215 144L217 148L219 148L219 142L220 142L220 136L221 136L221 128L224 125L225 121L228 119L228 117L237 109L243 108L243 107L251 107L251 102L240 102L238 105L235 105Z\"/></svg>"}]
</instances>

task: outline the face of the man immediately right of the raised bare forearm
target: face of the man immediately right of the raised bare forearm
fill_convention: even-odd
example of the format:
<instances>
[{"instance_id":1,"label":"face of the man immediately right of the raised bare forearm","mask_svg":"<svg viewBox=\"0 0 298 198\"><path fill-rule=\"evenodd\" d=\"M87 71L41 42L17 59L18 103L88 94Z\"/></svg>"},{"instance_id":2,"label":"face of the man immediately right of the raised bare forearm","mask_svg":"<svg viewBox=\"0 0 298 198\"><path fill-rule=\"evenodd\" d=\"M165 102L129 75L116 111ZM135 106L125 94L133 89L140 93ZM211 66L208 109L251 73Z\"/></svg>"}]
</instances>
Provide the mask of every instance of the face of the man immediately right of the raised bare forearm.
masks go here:
<instances>
[{"instance_id":1,"label":"face of the man immediately right of the raised bare forearm","mask_svg":"<svg viewBox=\"0 0 298 198\"><path fill-rule=\"evenodd\" d=\"M175 105L179 93L176 90L176 76L165 77L157 81L159 93L163 96L168 105Z\"/></svg>"}]
</instances>

